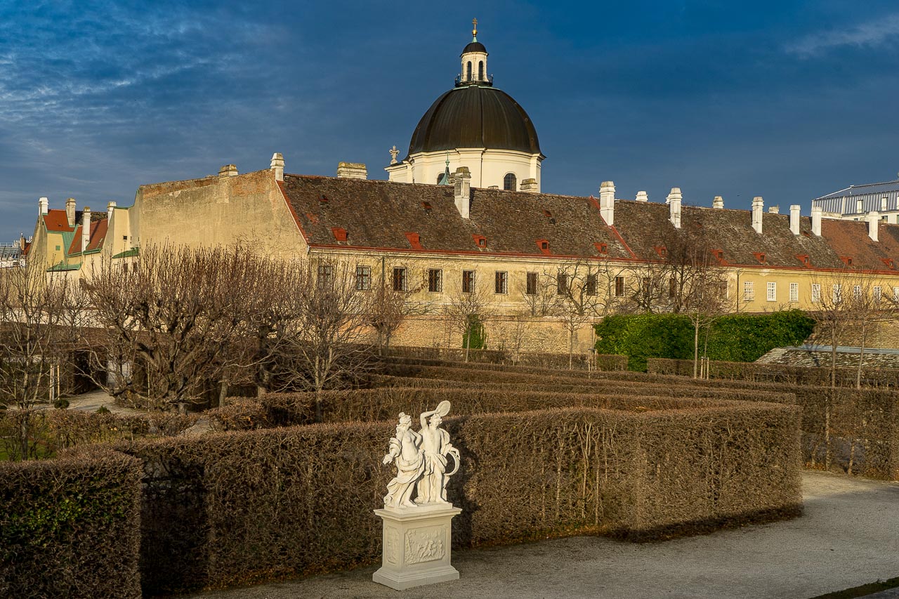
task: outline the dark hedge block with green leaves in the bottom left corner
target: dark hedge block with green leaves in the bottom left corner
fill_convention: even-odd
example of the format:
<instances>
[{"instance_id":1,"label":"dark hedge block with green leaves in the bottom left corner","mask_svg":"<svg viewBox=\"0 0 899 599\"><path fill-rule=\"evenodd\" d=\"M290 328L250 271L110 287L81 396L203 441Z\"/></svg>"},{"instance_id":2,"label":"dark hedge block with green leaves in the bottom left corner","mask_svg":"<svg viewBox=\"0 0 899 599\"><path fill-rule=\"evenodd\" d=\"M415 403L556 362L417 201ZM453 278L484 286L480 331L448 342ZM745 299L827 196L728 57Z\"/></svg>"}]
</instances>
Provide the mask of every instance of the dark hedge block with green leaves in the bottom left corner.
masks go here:
<instances>
[{"instance_id":1,"label":"dark hedge block with green leaves in the bottom left corner","mask_svg":"<svg viewBox=\"0 0 899 599\"><path fill-rule=\"evenodd\" d=\"M0 462L0 596L139 597L140 460Z\"/></svg>"}]
</instances>

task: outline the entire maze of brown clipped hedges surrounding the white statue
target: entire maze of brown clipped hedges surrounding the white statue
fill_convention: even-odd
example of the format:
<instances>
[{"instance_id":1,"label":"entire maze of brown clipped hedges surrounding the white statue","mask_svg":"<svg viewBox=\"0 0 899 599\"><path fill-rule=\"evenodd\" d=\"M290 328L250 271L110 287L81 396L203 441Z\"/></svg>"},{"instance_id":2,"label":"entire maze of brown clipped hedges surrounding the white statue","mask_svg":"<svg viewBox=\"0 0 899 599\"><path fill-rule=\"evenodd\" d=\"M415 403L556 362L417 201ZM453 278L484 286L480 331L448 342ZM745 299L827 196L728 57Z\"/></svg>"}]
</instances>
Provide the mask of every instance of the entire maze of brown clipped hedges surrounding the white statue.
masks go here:
<instances>
[{"instance_id":1,"label":"entire maze of brown clipped hedges surrounding the white statue","mask_svg":"<svg viewBox=\"0 0 899 599\"><path fill-rule=\"evenodd\" d=\"M895 391L823 390L407 357L320 394L318 424L313 393L231 398L203 415L210 434L178 434L195 416L157 423L173 436L154 439L129 421L130 434L102 446L76 435L58 460L0 464L11 505L0 595L165 595L373 563L372 509L393 476L379 457L396 415L443 399L463 460L449 487L464 510L458 548L571 534L654 541L792 517L804 464L899 474ZM64 525L35 515L87 487L95 500ZM101 548L114 554L109 571L72 566ZM33 568L64 572L41 583L58 586L29 588L48 579L26 571L29 551ZM113 579L127 591L110 591Z\"/></svg>"}]
</instances>

